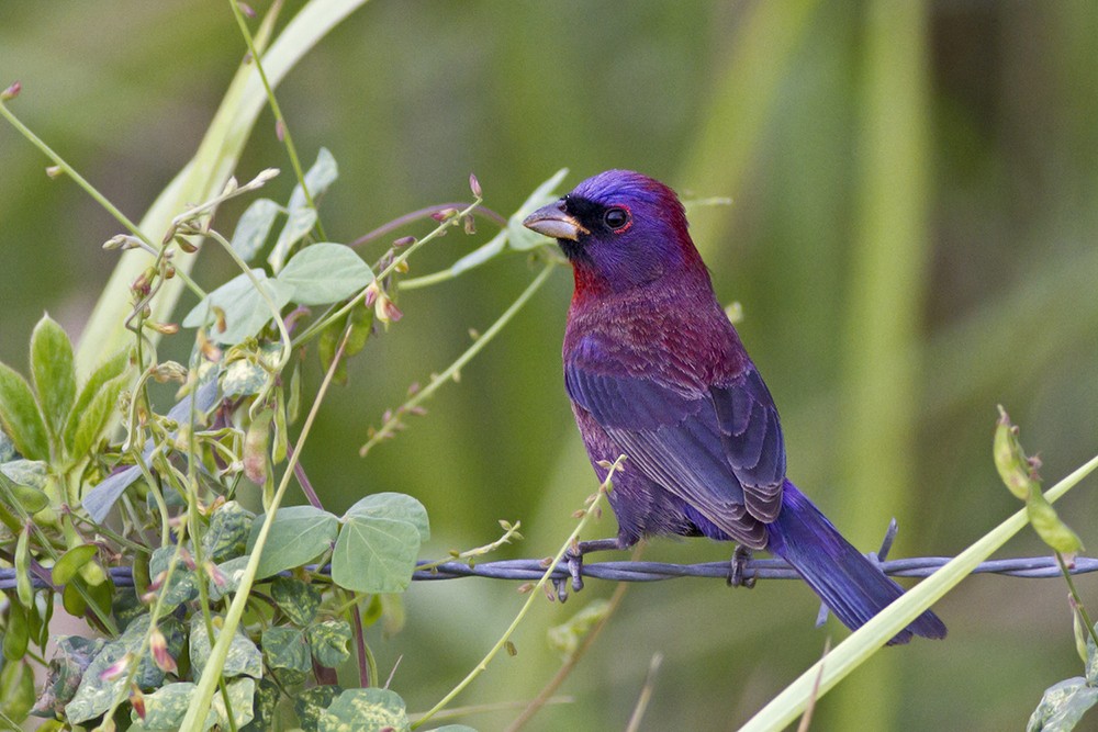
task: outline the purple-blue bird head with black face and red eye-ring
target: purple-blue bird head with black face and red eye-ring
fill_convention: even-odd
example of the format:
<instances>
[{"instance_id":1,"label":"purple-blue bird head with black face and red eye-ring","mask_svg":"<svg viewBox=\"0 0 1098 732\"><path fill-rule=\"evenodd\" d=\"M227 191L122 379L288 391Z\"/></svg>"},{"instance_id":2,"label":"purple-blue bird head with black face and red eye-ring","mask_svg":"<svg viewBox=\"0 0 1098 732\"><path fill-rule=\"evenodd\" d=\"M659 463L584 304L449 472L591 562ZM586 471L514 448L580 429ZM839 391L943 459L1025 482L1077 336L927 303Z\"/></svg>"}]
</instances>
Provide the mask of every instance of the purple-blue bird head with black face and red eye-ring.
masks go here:
<instances>
[{"instance_id":1,"label":"purple-blue bird head with black face and red eye-ring","mask_svg":"<svg viewBox=\"0 0 1098 732\"><path fill-rule=\"evenodd\" d=\"M589 178L523 225L557 239L575 270L578 296L621 292L705 269L679 196L631 170Z\"/></svg>"}]
</instances>

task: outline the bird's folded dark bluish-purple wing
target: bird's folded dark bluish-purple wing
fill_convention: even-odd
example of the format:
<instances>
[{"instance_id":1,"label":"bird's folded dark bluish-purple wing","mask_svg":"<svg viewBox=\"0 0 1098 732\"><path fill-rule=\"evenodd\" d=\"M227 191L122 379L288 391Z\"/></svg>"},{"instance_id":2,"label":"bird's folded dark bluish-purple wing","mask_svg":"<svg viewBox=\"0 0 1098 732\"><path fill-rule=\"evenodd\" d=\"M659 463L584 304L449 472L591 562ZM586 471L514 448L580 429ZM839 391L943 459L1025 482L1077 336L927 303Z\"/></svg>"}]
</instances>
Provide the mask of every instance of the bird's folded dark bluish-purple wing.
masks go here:
<instances>
[{"instance_id":1,"label":"bird's folded dark bluish-purple wing","mask_svg":"<svg viewBox=\"0 0 1098 732\"><path fill-rule=\"evenodd\" d=\"M692 388L570 360L564 382L629 465L733 538L765 544L763 523L782 507L785 444L777 409L754 367L718 386Z\"/></svg>"}]
</instances>

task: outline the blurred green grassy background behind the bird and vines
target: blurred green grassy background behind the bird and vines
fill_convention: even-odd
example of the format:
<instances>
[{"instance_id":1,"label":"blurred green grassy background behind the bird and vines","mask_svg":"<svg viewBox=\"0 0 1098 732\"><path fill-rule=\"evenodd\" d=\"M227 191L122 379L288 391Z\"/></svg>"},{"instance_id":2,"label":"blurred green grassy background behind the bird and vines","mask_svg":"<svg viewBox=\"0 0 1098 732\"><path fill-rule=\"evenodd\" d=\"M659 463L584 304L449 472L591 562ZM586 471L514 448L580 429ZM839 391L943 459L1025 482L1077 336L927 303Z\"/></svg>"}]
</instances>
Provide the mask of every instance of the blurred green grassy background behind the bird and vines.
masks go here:
<instances>
[{"instance_id":1,"label":"blurred green grassy background behind the bird and vines","mask_svg":"<svg viewBox=\"0 0 1098 732\"><path fill-rule=\"evenodd\" d=\"M505 215L564 166L565 188L623 167L685 195L731 196L695 210L693 232L720 297L743 306L791 475L865 550L896 516L894 555L952 555L1019 507L990 462L997 403L1050 480L1098 444L1095 38L1098 4L1082 0L376 0L306 56L279 99L303 157L324 145L339 161L322 205L336 240L468 199L470 171ZM0 86L24 86L13 109L134 218L192 155L242 54L224 3L0 3ZM19 368L42 312L79 333L115 262L99 245L117 225L45 165L0 126L0 360ZM268 166L289 171L265 113L240 177ZM239 211L222 212L225 230ZM486 240L481 228L441 239L413 273ZM368 426L452 361L533 272L513 255L401 297L404 319L351 362L304 454L327 507L413 494L430 513L429 555L494 540L501 518L520 519L526 536L501 555L559 547L595 486L562 388L563 269L427 417L357 455ZM231 273L219 254L195 270L208 288ZM184 352L187 336L177 340ZM313 360L306 376L315 387ZM1095 494L1090 478L1061 508L1090 544ZM597 534L614 530L607 515ZM729 551L663 540L645 558ZM1004 552L1042 553L1029 532ZM546 628L612 590L592 581L567 605L539 607L518 655L458 703L533 697L560 663ZM1091 578L1080 590L1098 607ZM457 683L520 601L503 582L414 586L404 631L371 631L383 673L403 658L392 687L410 710ZM792 582L632 586L561 689L574 701L528 729L623 729L657 652L642 729L735 729L820 655L828 632L845 637L833 620L814 628L817 607ZM937 609L948 640L877 654L819 702L814 729L1019 729L1045 687L1080 673L1062 581L976 577ZM495 730L515 714L463 721Z\"/></svg>"}]
</instances>

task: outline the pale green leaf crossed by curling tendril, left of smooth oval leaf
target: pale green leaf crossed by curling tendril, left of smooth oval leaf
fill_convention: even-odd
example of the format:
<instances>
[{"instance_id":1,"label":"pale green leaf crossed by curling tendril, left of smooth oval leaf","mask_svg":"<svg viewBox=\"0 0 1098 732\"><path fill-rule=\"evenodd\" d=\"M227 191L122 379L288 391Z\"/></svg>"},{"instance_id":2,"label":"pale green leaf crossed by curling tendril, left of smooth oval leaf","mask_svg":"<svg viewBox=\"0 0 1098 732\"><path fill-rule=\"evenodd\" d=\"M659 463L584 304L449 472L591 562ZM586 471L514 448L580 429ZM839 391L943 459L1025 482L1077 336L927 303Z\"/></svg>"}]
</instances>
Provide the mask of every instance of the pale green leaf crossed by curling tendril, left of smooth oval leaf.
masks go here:
<instances>
[{"instance_id":1,"label":"pale green leaf crossed by curling tendril, left of smooth oval leaf","mask_svg":"<svg viewBox=\"0 0 1098 732\"><path fill-rule=\"evenodd\" d=\"M254 269L251 273L274 303L276 309L281 309L290 302L290 286L268 279L267 272L261 269ZM235 346L257 335L274 316L262 294L253 284L251 278L244 272L203 297L183 318L183 326L213 326L214 307L221 308L225 314L225 330L219 333L215 327L211 327L210 339L226 346Z\"/></svg>"}]
</instances>

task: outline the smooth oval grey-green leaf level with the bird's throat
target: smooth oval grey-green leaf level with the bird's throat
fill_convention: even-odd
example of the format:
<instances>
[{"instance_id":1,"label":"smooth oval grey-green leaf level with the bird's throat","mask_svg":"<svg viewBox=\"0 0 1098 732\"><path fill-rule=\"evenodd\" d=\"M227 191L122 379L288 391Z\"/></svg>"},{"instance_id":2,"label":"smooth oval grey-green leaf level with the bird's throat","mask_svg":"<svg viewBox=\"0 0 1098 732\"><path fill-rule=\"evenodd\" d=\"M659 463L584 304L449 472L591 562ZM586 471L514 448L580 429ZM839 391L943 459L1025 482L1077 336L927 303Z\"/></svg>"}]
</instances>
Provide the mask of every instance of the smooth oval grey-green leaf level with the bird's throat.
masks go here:
<instances>
[{"instance_id":1,"label":"smooth oval grey-green leaf level with the bird's throat","mask_svg":"<svg viewBox=\"0 0 1098 732\"><path fill-rule=\"evenodd\" d=\"M373 271L350 247L320 241L287 262L278 281L293 288L295 303L327 305L360 292L373 281Z\"/></svg>"}]
</instances>

